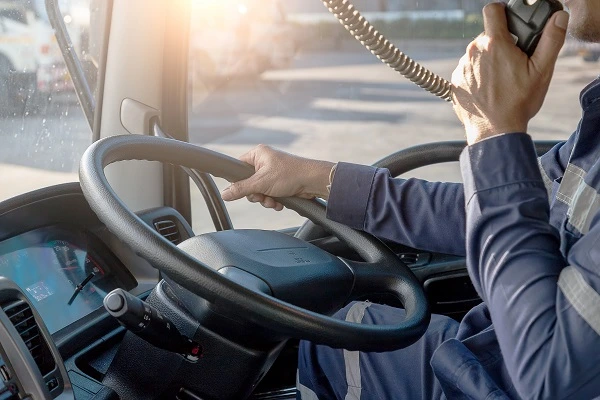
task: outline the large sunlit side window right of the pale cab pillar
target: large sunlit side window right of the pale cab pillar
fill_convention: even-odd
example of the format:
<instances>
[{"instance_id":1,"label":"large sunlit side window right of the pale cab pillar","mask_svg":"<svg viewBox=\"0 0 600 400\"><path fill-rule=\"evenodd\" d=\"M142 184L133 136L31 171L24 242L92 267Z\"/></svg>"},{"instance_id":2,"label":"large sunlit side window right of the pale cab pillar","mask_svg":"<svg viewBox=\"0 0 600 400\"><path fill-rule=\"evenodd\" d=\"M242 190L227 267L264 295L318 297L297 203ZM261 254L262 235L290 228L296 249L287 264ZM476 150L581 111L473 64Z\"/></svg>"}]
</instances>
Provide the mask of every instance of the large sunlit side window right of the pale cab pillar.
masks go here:
<instances>
[{"instance_id":1,"label":"large sunlit side window right of the pale cab pillar","mask_svg":"<svg viewBox=\"0 0 600 400\"><path fill-rule=\"evenodd\" d=\"M450 79L483 30L480 0L353 0L397 47ZM383 65L320 0L196 0L190 43L190 140L238 157L259 143L306 157L372 164L417 144L464 140L452 106ZM579 119L578 94L594 79L569 42L546 104L532 121L537 139L564 139ZM587 50L590 61L600 57ZM459 181L458 165L411 176ZM221 187L225 183L220 183ZM193 195L194 229L212 229ZM229 203L236 227L284 228L303 219L245 201Z\"/></svg>"}]
</instances>

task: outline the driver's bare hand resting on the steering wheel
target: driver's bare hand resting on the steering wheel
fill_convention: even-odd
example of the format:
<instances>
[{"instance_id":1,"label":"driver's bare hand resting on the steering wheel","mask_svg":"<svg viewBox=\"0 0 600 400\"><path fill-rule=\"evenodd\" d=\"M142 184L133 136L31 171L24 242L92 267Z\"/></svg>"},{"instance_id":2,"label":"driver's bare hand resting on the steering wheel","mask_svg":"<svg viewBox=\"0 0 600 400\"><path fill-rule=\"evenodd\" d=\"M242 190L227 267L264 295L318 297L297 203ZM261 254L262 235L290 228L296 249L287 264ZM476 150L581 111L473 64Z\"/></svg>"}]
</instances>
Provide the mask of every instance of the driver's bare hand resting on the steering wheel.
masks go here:
<instances>
[{"instance_id":1,"label":"driver's bare hand resting on the steering wheel","mask_svg":"<svg viewBox=\"0 0 600 400\"><path fill-rule=\"evenodd\" d=\"M329 175L334 163L295 156L269 146L258 145L240 157L254 167L250 178L232 183L221 192L225 201L246 197L252 203L277 211L283 205L277 197L302 197L327 199Z\"/></svg>"}]
</instances>

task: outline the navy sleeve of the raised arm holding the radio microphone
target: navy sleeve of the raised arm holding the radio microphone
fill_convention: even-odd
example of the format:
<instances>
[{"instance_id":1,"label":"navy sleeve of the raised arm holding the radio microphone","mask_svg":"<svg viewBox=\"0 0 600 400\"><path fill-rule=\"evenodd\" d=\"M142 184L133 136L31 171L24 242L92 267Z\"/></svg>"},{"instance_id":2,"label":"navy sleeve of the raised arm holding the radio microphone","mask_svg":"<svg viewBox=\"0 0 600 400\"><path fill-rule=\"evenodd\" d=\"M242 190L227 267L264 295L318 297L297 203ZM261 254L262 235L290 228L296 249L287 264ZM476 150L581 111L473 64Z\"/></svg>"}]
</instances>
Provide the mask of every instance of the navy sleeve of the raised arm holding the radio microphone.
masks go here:
<instances>
[{"instance_id":1,"label":"navy sleeve of the raised arm holding the radio microphone","mask_svg":"<svg viewBox=\"0 0 600 400\"><path fill-rule=\"evenodd\" d=\"M524 399L600 394L600 218L565 260L526 134L461 155L467 266Z\"/></svg>"}]
</instances>

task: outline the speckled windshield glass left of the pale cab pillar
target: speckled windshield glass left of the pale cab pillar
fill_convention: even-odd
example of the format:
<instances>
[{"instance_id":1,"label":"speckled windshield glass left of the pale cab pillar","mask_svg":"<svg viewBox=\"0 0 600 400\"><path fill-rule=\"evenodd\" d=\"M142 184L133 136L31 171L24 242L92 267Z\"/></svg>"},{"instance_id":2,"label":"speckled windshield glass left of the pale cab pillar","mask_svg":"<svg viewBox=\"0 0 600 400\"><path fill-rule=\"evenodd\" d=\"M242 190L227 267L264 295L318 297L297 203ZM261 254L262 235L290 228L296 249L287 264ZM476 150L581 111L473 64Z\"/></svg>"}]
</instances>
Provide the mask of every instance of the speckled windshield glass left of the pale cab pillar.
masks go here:
<instances>
[{"instance_id":1,"label":"speckled windshield glass left of the pale cab pillar","mask_svg":"<svg viewBox=\"0 0 600 400\"><path fill-rule=\"evenodd\" d=\"M77 54L85 58L90 0L59 4ZM78 180L92 133L44 0L0 1L0 137L0 200Z\"/></svg>"}]
</instances>

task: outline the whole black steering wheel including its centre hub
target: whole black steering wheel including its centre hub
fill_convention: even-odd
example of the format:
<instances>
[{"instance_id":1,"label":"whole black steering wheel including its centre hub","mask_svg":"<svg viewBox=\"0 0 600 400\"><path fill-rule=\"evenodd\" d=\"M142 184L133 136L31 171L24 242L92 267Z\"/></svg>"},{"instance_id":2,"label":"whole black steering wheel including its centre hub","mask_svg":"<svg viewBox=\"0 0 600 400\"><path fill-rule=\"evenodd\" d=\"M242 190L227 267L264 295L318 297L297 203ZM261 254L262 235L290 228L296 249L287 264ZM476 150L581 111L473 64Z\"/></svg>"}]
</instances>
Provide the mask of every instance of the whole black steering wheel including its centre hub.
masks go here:
<instances>
[{"instance_id":1,"label":"whole black steering wheel including its centre hub","mask_svg":"<svg viewBox=\"0 0 600 400\"><path fill-rule=\"evenodd\" d=\"M175 247L129 210L109 185L104 168L126 160L180 165L231 182L248 178L254 168L185 142L138 135L103 139L83 155L79 176L92 210L120 240L188 291L281 336L331 347L390 351L414 343L425 333L429 307L410 269L375 237L328 220L319 202L278 199L337 236L364 262L335 257L272 231L222 231ZM372 293L399 297L405 319L395 325L361 325L327 315L351 299Z\"/></svg>"}]
</instances>

